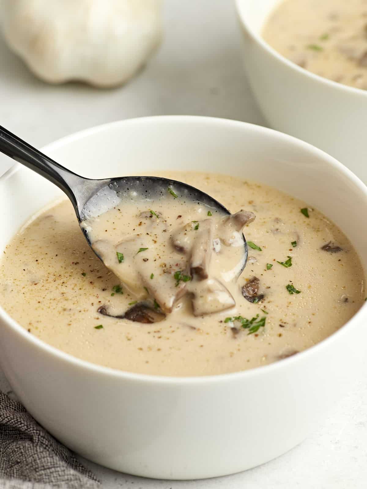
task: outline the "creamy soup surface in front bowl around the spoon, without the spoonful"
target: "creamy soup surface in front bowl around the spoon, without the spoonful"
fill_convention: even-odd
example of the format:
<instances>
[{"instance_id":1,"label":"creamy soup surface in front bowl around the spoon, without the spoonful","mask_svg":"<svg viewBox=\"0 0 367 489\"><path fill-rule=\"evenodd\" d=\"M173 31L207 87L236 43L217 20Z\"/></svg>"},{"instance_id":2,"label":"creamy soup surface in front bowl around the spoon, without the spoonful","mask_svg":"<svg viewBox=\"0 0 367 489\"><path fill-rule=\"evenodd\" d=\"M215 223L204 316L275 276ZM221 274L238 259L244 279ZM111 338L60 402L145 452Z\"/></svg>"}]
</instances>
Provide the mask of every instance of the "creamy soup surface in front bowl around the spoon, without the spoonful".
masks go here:
<instances>
[{"instance_id":1,"label":"creamy soup surface in front bowl around the spoon, without the spoonful","mask_svg":"<svg viewBox=\"0 0 367 489\"><path fill-rule=\"evenodd\" d=\"M237 280L223 282L225 244L212 243L215 266L210 273L229 291L233 303L228 308L195 316L190 290L164 315L152 285L142 298L154 304L151 316L157 322L137 322L134 314L114 317L133 310L141 297L95 256L71 204L62 201L35 216L6 247L0 284L5 310L30 334L84 360L130 372L199 376L246 370L294 355L334 333L363 304L360 260L347 237L317 210L239 178L181 172L158 176L194 185L230 210L255 214L244 228L249 259ZM195 212L191 210L182 224L202 225ZM119 222L119 214L105 231L116 235L115 241L126 225L123 219ZM159 209L156 214L158 218L147 219L162 219ZM138 213L134 219L142 222ZM199 229L192 226L190 232ZM158 240L160 236L157 233ZM154 264L159 253L149 250L151 239L146 233L138 248L147 249L134 259L141 267L152 267L146 280L153 283L162 278ZM116 256L116 266L124 267L128 256L121 263ZM166 272L167 264L161 268L174 288L177 282L181 287L185 273L180 264ZM177 271L181 275L175 276Z\"/></svg>"}]
</instances>

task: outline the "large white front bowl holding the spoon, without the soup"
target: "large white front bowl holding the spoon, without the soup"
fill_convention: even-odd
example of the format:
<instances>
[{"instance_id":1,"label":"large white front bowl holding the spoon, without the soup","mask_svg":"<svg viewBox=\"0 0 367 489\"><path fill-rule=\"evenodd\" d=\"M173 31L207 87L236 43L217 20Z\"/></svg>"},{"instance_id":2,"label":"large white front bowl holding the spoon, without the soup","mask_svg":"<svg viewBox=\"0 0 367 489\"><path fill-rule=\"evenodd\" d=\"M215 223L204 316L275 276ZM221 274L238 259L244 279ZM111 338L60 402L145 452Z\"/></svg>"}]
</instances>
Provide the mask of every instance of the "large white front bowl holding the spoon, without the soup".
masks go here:
<instances>
[{"instance_id":1,"label":"large white front bowl holding the spoon, without the soup","mask_svg":"<svg viewBox=\"0 0 367 489\"><path fill-rule=\"evenodd\" d=\"M86 177L200 170L259 180L336 222L367 265L367 187L341 163L243 122L168 116L115 122L44 151ZM0 250L60 195L17 164L0 179ZM21 300L21 298L20 298ZM300 443L348 390L365 353L367 307L296 356L246 372L196 378L139 375L67 355L0 310L0 362L28 411L84 457L131 474L197 479L263 464Z\"/></svg>"}]
</instances>

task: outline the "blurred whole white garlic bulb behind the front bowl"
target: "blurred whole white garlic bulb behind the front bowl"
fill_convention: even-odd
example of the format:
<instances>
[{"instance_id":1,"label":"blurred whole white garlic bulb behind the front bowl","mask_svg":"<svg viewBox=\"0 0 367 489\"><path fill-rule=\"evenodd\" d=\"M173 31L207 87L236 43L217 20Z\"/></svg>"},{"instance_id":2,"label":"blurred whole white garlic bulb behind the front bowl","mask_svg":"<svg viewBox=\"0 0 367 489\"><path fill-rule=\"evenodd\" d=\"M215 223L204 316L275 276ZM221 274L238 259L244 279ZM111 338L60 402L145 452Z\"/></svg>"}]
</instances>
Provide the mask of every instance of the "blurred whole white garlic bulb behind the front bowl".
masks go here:
<instances>
[{"instance_id":1,"label":"blurred whole white garlic bulb behind the front bowl","mask_svg":"<svg viewBox=\"0 0 367 489\"><path fill-rule=\"evenodd\" d=\"M1 0L9 44L40 78L113 87L161 40L161 0Z\"/></svg>"}]
</instances>

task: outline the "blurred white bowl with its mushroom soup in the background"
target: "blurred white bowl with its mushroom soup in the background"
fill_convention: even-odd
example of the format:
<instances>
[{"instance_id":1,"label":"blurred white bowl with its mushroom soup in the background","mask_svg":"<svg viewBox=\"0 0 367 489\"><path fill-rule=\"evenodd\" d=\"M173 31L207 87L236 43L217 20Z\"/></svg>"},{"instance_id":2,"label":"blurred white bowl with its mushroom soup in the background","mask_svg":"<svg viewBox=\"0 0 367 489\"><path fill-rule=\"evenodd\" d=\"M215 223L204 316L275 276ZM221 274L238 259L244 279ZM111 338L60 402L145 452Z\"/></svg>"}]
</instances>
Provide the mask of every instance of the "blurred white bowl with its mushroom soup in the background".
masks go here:
<instances>
[{"instance_id":1,"label":"blurred white bowl with its mushroom soup in the background","mask_svg":"<svg viewBox=\"0 0 367 489\"><path fill-rule=\"evenodd\" d=\"M244 65L271 127L367 181L367 5L236 0Z\"/></svg>"}]
</instances>

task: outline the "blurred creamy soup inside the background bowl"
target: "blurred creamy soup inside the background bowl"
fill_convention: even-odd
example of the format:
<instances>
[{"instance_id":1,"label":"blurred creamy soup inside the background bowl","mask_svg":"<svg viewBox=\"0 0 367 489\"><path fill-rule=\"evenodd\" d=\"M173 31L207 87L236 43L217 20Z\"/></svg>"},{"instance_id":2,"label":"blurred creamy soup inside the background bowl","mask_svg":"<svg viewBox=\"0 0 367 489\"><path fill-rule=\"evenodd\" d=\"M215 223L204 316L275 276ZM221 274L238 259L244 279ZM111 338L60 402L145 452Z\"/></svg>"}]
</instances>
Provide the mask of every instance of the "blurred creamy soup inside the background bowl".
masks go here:
<instances>
[{"instance_id":1,"label":"blurred creamy soup inside the background bowl","mask_svg":"<svg viewBox=\"0 0 367 489\"><path fill-rule=\"evenodd\" d=\"M317 75L367 89L367 1L286 0L271 14L263 38Z\"/></svg>"}]
</instances>

